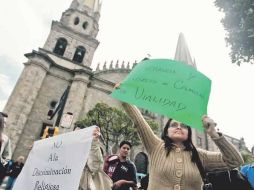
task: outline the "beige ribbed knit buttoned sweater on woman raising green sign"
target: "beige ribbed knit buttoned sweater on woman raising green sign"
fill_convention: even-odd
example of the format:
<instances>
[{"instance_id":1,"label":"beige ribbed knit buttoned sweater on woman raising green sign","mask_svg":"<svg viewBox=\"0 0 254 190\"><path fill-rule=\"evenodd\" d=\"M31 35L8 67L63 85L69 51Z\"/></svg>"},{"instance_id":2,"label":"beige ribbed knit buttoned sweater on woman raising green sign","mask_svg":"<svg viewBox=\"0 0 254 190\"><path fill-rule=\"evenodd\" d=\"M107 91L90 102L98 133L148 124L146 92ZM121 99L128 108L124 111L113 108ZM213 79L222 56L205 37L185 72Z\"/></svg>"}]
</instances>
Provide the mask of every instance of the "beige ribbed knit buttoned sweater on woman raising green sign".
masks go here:
<instances>
[{"instance_id":1,"label":"beige ribbed knit buttoned sweater on woman raising green sign","mask_svg":"<svg viewBox=\"0 0 254 190\"><path fill-rule=\"evenodd\" d=\"M167 157L164 142L153 133L140 111L127 103L123 106L136 124L149 154L148 190L201 190L202 179L196 164L191 162L191 152L176 147ZM240 153L224 136L213 141L220 152L197 149L207 171L233 169L243 163Z\"/></svg>"}]
</instances>

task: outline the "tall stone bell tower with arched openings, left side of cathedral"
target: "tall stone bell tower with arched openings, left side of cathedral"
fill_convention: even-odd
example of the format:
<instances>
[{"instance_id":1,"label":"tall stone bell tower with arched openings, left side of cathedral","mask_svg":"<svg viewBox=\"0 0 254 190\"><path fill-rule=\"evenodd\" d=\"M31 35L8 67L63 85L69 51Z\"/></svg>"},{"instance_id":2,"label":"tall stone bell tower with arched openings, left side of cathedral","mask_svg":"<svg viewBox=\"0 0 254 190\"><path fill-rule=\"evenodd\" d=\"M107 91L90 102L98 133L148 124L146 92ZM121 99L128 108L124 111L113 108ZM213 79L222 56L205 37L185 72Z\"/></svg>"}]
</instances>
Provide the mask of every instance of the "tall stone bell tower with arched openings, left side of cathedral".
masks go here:
<instances>
[{"instance_id":1,"label":"tall stone bell tower with arched openings, left side of cathedral","mask_svg":"<svg viewBox=\"0 0 254 190\"><path fill-rule=\"evenodd\" d=\"M9 115L6 133L12 140L14 158L26 155L43 128L52 125L47 120L48 110L68 86L64 111L73 113L74 121L79 117L99 45L100 7L99 0L73 0L60 21L52 22L43 48L25 54L28 61L4 108Z\"/></svg>"}]
</instances>

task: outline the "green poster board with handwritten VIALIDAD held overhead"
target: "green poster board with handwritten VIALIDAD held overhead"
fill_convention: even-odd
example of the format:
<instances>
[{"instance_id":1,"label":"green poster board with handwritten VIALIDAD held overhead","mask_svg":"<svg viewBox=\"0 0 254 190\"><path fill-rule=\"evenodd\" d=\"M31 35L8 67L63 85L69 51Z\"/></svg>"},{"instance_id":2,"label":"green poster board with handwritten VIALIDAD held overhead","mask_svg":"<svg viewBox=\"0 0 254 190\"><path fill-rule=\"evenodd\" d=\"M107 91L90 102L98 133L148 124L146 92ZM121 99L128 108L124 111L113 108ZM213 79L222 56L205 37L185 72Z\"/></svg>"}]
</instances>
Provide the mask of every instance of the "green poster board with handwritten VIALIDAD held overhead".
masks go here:
<instances>
[{"instance_id":1,"label":"green poster board with handwritten VIALIDAD held overhead","mask_svg":"<svg viewBox=\"0 0 254 190\"><path fill-rule=\"evenodd\" d=\"M135 66L112 97L202 129L211 80L190 65L150 59Z\"/></svg>"}]
</instances>

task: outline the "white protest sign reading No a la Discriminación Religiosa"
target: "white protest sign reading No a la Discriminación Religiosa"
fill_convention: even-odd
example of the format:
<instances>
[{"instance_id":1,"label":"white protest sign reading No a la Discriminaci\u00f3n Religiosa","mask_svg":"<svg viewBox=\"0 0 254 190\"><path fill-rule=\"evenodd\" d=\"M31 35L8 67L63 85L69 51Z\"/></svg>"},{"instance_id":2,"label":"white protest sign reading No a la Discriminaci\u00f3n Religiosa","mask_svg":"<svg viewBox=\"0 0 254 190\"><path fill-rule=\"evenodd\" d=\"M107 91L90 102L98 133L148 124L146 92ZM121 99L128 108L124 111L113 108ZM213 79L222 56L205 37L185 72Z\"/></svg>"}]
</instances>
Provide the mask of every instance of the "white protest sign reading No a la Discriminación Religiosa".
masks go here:
<instances>
[{"instance_id":1,"label":"white protest sign reading No a la Discriminaci\u00f3n Religiosa","mask_svg":"<svg viewBox=\"0 0 254 190\"><path fill-rule=\"evenodd\" d=\"M77 190L94 128L36 141L13 190Z\"/></svg>"}]
</instances>

